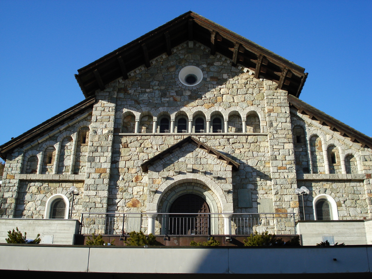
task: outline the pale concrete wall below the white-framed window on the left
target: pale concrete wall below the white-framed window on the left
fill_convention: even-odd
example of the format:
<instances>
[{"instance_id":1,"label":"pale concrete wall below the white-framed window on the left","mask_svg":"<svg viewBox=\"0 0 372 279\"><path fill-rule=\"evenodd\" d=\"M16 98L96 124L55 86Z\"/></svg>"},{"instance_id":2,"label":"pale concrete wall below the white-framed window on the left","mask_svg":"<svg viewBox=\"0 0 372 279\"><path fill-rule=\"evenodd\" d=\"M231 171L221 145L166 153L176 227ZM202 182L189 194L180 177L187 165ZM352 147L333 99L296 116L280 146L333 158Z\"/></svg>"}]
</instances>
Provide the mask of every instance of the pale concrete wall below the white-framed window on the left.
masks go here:
<instances>
[{"instance_id":1,"label":"pale concrete wall below the white-framed window on the left","mask_svg":"<svg viewBox=\"0 0 372 279\"><path fill-rule=\"evenodd\" d=\"M79 233L78 220L73 219L13 219L0 218L0 243L6 243L8 231L18 227L26 237L35 239L40 234L43 244L74 244L74 235Z\"/></svg>"}]
</instances>

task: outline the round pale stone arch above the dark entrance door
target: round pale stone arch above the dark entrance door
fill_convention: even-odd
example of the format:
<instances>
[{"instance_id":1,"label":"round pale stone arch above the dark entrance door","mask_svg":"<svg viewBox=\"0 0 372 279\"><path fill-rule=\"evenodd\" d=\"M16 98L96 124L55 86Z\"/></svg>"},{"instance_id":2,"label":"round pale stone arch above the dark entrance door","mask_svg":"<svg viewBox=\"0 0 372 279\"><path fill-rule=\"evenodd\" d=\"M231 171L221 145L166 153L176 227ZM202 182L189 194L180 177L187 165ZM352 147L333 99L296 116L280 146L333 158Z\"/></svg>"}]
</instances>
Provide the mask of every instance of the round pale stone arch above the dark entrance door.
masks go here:
<instances>
[{"instance_id":1,"label":"round pale stone arch above the dark entrance door","mask_svg":"<svg viewBox=\"0 0 372 279\"><path fill-rule=\"evenodd\" d=\"M212 190L212 192L217 196L218 201L215 201L213 196L209 194L208 192L203 191L201 188L197 189L194 186L187 186L187 183L199 183L201 185L204 185ZM180 187L177 189L177 193L172 193L169 195L168 200L166 203L170 203L179 196L180 193L196 193L201 195L203 193L203 198L206 199L206 202L211 207L212 212L216 212L216 208L218 205L221 206L222 213L232 213L233 207L232 207L232 197L226 196L224 194L224 191L222 187L216 183L214 180L210 179L209 177L199 174L199 173L185 173L185 174L179 174L177 176L174 176L172 180L167 180L164 183L160 185L160 187L157 189L155 194L153 195L152 201L150 201L150 197L148 199L147 203L147 209L146 212L148 213L155 213L160 212L161 208L159 208L161 198L163 198L164 194L168 191L170 191L174 186L185 184L185 186ZM163 208L169 209L170 205L164 204Z\"/></svg>"}]
</instances>

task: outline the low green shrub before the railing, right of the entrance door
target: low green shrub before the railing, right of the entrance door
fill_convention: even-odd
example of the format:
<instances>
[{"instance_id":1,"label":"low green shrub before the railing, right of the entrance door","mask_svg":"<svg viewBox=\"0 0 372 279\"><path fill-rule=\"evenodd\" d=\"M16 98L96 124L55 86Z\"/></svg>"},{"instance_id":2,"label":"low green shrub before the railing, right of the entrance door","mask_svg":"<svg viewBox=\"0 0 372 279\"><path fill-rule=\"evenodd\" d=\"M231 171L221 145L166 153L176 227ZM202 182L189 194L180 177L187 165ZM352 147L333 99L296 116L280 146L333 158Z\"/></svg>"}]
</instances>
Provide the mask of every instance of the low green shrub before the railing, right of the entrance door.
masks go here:
<instances>
[{"instance_id":1,"label":"low green shrub before the railing, right of the entrance door","mask_svg":"<svg viewBox=\"0 0 372 279\"><path fill-rule=\"evenodd\" d=\"M267 231L262 234L258 234L257 231L255 234L251 234L250 237L247 237L247 240L243 240L244 246L299 246L300 240L297 235L293 239L284 242L282 238L276 238L275 234L269 234Z\"/></svg>"}]
</instances>

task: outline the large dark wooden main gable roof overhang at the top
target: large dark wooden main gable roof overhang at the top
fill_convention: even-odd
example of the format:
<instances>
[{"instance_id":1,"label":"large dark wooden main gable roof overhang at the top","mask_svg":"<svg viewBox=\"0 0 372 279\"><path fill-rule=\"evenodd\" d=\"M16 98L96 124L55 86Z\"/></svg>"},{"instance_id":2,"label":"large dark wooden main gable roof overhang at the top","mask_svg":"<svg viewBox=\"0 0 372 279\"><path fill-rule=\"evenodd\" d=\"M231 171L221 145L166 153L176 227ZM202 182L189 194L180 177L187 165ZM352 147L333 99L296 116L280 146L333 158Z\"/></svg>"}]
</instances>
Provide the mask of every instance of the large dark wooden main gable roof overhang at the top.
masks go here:
<instances>
[{"instance_id":1,"label":"large dark wooden main gable roof overhang at the top","mask_svg":"<svg viewBox=\"0 0 372 279\"><path fill-rule=\"evenodd\" d=\"M263 77L278 83L278 89L299 97L307 78L305 69L255 44L217 23L194 12L187 12L140 38L103 56L78 70L76 80L89 97L97 89L116 78L128 78L128 72L141 65L150 67L150 60L185 41L196 41L228 57L232 65L240 64Z\"/></svg>"}]
</instances>

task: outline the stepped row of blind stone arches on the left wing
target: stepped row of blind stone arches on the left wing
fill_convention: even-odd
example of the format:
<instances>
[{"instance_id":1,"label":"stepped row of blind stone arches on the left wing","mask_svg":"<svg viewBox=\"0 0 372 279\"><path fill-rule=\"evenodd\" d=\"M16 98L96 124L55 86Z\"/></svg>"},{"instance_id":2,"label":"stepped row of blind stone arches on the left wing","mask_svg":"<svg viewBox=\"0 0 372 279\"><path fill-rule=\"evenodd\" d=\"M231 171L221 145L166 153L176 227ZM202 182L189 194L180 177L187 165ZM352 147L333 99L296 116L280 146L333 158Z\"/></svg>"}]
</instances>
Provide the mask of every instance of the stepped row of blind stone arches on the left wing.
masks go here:
<instances>
[{"instance_id":1,"label":"stepped row of blind stone arches on the left wing","mask_svg":"<svg viewBox=\"0 0 372 279\"><path fill-rule=\"evenodd\" d=\"M25 153L22 173L81 174L85 172L89 143L89 128L63 133L57 141L49 141L38 150Z\"/></svg>"}]
</instances>

